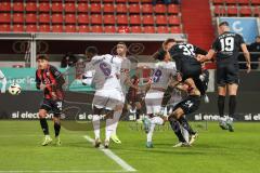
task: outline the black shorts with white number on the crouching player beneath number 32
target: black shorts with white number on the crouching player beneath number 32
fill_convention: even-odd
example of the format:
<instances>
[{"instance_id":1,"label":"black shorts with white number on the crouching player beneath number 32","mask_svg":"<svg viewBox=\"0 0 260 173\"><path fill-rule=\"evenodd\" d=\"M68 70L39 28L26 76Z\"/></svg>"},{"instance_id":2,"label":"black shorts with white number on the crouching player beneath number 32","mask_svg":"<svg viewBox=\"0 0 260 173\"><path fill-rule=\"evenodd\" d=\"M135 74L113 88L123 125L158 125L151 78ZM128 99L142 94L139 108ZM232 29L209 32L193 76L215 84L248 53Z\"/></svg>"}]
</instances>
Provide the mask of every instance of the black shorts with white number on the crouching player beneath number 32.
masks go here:
<instances>
[{"instance_id":1,"label":"black shorts with white number on the crouching player beneath number 32","mask_svg":"<svg viewBox=\"0 0 260 173\"><path fill-rule=\"evenodd\" d=\"M185 99L180 102L174 106L174 110L178 108L182 108L185 115L192 114L199 108L200 105L200 96L197 95L188 95Z\"/></svg>"}]
</instances>

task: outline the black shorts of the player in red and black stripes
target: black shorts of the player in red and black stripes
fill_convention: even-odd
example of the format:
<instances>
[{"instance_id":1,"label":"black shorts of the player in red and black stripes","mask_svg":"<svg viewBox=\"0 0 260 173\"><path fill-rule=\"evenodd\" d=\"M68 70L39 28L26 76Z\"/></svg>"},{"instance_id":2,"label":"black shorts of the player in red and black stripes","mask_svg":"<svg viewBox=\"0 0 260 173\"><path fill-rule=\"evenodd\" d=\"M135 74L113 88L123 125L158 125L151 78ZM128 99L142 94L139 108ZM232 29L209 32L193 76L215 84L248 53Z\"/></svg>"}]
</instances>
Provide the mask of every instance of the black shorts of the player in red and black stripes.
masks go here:
<instances>
[{"instance_id":1,"label":"black shorts of the player in red and black stripes","mask_svg":"<svg viewBox=\"0 0 260 173\"><path fill-rule=\"evenodd\" d=\"M43 98L40 105L40 109L44 109L47 111L52 111L54 117L60 117L62 114L63 101L61 99L48 99Z\"/></svg>"}]
</instances>

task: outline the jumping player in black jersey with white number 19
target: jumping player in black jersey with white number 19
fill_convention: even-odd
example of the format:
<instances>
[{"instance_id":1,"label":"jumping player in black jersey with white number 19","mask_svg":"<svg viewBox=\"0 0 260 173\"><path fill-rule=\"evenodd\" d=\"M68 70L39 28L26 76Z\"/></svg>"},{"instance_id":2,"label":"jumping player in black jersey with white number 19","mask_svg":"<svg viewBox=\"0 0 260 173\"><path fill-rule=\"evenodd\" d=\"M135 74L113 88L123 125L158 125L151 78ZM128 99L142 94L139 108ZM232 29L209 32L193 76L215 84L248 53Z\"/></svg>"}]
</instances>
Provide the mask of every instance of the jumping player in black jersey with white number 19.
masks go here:
<instances>
[{"instance_id":1,"label":"jumping player in black jersey with white number 19","mask_svg":"<svg viewBox=\"0 0 260 173\"><path fill-rule=\"evenodd\" d=\"M233 132L233 119L224 117L224 103L226 92L230 95L229 116L233 117L236 109L236 94L239 83L238 79L238 54L242 49L247 61L247 72L250 71L250 54L240 35L230 31L229 23L219 24L219 36L206 56L198 56L197 59L205 62L216 55L217 61L217 83L218 83L218 109L220 115L220 127L223 130Z\"/></svg>"}]
</instances>

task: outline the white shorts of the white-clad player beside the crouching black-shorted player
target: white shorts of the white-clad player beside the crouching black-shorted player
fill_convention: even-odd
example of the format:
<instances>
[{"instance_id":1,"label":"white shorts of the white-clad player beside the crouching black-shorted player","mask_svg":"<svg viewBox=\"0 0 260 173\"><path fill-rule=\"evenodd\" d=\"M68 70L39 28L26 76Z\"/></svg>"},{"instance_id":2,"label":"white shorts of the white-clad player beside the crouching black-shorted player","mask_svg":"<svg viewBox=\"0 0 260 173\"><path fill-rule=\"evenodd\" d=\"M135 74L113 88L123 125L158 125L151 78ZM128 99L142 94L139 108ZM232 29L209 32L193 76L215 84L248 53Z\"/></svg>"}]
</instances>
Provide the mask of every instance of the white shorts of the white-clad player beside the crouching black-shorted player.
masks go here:
<instances>
[{"instance_id":1,"label":"white shorts of the white-clad player beside the crouching black-shorted player","mask_svg":"<svg viewBox=\"0 0 260 173\"><path fill-rule=\"evenodd\" d=\"M150 90L145 95L146 112L159 114L165 92Z\"/></svg>"}]
</instances>

